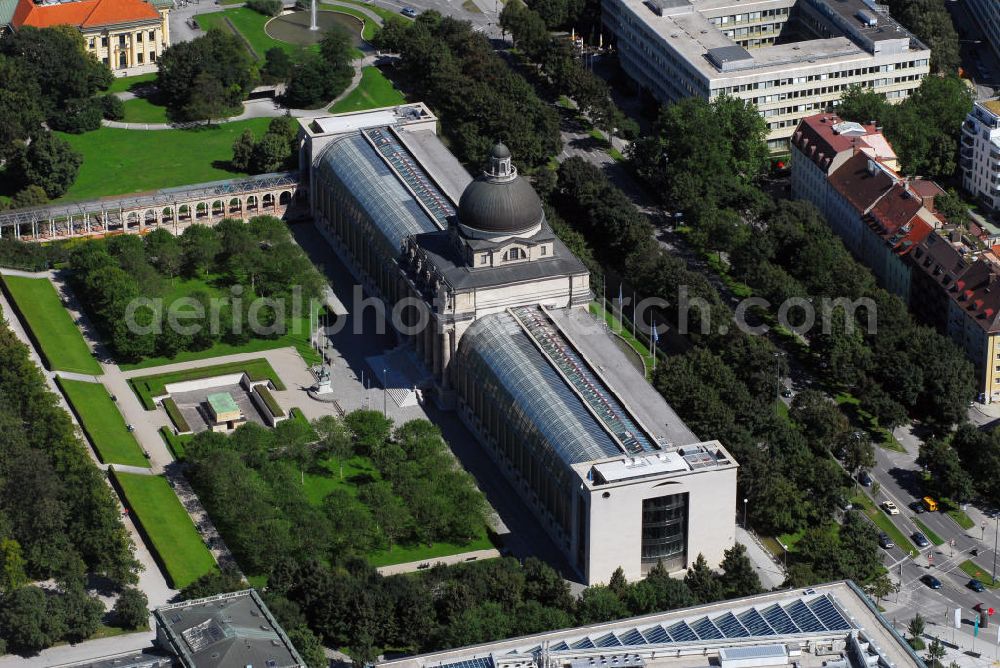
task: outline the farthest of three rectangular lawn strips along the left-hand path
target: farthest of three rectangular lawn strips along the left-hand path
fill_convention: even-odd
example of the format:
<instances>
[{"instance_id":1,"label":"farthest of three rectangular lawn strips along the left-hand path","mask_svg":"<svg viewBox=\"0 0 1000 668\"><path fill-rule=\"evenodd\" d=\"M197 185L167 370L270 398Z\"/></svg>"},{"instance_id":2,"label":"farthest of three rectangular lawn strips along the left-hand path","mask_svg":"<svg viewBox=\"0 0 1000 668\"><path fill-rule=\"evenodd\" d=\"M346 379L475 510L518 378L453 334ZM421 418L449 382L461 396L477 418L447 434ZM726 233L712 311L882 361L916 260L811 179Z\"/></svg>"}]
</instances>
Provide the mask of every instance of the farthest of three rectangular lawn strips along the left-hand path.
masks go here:
<instances>
[{"instance_id":1,"label":"farthest of three rectangular lawn strips along the left-hand path","mask_svg":"<svg viewBox=\"0 0 1000 668\"><path fill-rule=\"evenodd\" d=\"M48 369L95 376L103 373L48 279L4 276L3 284L27 321Z\"/></svg>"}]
</instances>

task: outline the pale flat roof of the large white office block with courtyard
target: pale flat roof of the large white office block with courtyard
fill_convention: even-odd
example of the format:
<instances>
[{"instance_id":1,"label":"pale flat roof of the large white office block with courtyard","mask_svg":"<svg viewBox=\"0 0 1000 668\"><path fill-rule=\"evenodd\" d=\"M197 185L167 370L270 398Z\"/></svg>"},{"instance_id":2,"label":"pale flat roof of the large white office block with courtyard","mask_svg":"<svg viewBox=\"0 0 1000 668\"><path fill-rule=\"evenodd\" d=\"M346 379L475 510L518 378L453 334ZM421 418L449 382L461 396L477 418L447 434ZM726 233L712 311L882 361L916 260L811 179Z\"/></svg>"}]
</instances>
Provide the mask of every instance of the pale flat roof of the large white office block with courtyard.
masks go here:
<instances>
[{"instance_id":1,"label":"pale flat roof of the large white office block with courtyard","mask_svg":"<svg viewBox=\"0 0 1000 668\"><path fill-rule=\"evenodd\" d=\"M727 37L711 18L730 13L747 13L775 7L791 7L790 0L619 0L635 13L641 21L670 48L678 52L687 63L706 80L729 79L739 76L787 73L787 67L797 64L799 69L821 68L831 63L862 62L871 54L846 36L829 39L810 39L799 42L743 49ZM828 16L839 15L847 21L863 40L909 39L919 46L915 38L891 17L877 14L863 0L797 0L812 2L828 8ZM658 15L650 5L659 6ZM877 21L867 26L856 15L865 11ZM746 24L730 24L739 27ZM729 26L727 26L729 27ZM742 54L738 54L738 51ZM720 60L721 57L721 60ZM713 62L714 61L714 62ZM722 61L727 64L723 66ZM724 71L725 70L725 71Z\"/></svg>"}]
</instances>

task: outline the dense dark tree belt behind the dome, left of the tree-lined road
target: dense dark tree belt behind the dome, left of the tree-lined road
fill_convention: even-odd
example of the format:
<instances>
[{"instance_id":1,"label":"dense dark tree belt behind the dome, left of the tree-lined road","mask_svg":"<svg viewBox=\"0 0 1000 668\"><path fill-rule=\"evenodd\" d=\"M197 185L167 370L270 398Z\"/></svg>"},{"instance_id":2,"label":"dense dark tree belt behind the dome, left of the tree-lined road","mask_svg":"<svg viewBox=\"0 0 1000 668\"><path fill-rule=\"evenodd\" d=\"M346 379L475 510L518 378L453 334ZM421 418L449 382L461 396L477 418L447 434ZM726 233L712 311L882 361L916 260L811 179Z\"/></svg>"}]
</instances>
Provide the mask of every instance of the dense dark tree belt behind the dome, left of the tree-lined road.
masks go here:
<instances>
[{"instance_id":1,"label":"dense dark tree belt behind the dome, left of the tree-lined road","mask_svg":"<svg viewBox=\"0 0 1000 668\"><path fill-rule=\"evenodd\" d=\"M427 11L412 23L390 21L375 44L400 54L401 78L438 113L452 151L464 162L481 164L497 141L524 168L559 151L555 111L469 23Z\"/></svg>"}]
</instances>

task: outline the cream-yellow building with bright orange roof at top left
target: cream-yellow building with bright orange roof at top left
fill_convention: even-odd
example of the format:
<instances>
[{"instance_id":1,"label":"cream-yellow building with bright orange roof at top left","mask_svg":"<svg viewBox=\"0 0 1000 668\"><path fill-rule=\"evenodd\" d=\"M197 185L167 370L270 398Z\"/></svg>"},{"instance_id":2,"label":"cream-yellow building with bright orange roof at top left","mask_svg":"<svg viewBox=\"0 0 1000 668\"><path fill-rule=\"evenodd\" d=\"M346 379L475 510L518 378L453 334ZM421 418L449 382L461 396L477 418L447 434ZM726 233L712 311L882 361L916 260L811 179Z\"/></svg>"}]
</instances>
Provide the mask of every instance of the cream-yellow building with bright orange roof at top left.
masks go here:
<instances>
[{"instance_id":1,"label":"cream-yellow building with bright orange roof at top left","mask_svg":"<svg viewBox=\"0 0 1000 668\"><path fill-rule=\"evenodd\" d=\"M156 71L156 59L170 45L168 16L173 0L20 0L9 29L71 25L84 47L117 76Z\"/></svg>"}]
</instances>

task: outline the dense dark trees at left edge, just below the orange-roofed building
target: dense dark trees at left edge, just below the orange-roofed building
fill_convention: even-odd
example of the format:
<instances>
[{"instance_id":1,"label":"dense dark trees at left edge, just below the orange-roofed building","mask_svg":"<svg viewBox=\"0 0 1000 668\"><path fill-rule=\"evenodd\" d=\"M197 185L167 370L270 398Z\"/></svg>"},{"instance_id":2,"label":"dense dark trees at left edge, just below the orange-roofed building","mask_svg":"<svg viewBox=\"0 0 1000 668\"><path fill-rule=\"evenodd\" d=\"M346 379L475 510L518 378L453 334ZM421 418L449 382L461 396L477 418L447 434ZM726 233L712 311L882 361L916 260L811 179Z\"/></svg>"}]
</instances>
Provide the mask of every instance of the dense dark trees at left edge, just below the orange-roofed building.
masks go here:
<instances>
[{"instance_id":1,"label":"dense dark trees at left edge, just below the orange-roofed building","mask_svg":"<svg viewBox=\"0 0 1000 668\"><path fill-rule=\"evenodd\" d=\"M17 193L13 206L44 204L73 184L82 158L49 128L84 132L120 115L117 98L95 97L111 81L70 26L25 27L0 39L0 173L4 190Z\"/></svg>"}]
</instances>

